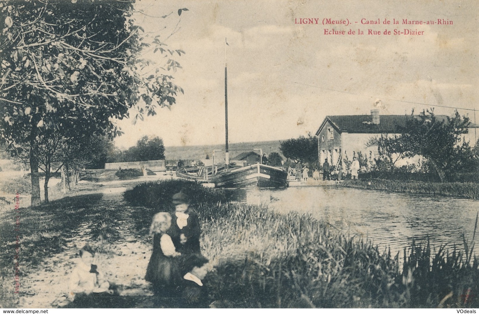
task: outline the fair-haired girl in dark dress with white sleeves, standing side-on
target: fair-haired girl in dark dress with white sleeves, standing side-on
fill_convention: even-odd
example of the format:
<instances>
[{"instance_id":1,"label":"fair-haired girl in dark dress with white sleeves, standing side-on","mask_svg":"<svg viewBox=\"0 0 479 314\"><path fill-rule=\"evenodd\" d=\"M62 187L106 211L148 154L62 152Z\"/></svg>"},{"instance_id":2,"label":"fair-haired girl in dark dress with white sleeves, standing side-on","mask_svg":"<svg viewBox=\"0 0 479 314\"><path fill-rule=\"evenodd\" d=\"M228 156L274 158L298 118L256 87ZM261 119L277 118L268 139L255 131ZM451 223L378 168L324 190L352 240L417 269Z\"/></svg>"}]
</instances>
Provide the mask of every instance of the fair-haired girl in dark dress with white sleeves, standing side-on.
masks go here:
<instances>
[{"instance_id":1,"label":"fair-haired girl in dark dress with white sleeves, standing side-on","mask_svg":"<svg viewBox=\"0 0 479 314\"><path fill-rule=\"evenodd\" d=\"M145 280L153 284L153 291L163 296L174 293L181 280L179 261L181 253L171 241L167 231L171 227L171 216L166 212L153 216L150 234L153 234L153 253L151 254Z\"/></svg>"}]
</instances>

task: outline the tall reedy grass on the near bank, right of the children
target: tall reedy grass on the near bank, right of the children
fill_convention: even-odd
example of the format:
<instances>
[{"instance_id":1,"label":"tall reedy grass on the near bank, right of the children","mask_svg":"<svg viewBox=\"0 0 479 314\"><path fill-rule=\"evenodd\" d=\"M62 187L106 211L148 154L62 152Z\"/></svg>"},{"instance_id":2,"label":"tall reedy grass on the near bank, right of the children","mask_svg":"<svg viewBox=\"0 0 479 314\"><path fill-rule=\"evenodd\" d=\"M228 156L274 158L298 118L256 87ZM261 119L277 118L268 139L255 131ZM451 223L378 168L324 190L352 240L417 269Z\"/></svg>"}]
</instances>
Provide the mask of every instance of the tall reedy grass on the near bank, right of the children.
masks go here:
<instances>
[{"instance_id":1,"label":"tall reedy grass on the near bank, right of the children","mask_svg":"<svg viewBox=\"0 0 479 314\"><path fill-rule=\"evenodd\" d=\"M203 220L203 253L215 266L205 286L217 307L479 305L479 261L466 242L463 252L439 248L433 254L429 244L413 241L403 256L391 256L309 215L219 203L216 190L188 184L203 193L194 206ZM171 194L178 185L164 182L152 188L154 195L161 195L162 188Z\"/></svg>"}]
</instances>

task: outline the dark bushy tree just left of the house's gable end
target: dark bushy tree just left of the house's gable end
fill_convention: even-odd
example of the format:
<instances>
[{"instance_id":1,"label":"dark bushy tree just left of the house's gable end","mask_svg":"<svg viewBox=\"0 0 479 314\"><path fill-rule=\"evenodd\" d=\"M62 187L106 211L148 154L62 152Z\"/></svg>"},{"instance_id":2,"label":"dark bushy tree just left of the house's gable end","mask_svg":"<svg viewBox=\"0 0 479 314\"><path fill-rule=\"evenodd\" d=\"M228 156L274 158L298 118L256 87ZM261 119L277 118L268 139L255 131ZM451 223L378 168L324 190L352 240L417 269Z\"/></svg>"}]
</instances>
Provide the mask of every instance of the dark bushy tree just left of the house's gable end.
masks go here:
<instances>
[{"instance_id":1,"label":"dark bushy tree just left of the house's gable end","mask_svg":"<svg viewBox=\"0 0 479 314\"><path fill-rule=\"evenodd\" d=\"M281 142L279 149L286 158L294 160L295 163L313 165L318 162L318 140L311 134L308 134L308 137L285 140Z\"/></svg>"}]
</instances>

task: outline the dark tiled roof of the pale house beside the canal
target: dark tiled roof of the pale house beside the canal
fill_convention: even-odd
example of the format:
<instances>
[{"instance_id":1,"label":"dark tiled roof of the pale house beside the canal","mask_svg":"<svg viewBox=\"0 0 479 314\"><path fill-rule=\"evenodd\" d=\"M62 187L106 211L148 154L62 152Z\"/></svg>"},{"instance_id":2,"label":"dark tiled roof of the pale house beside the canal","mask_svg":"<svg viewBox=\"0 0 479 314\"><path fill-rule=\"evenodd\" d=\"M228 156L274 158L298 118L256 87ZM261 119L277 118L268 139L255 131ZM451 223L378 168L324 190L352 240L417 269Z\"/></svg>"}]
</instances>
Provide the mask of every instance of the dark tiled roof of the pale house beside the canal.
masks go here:
<instances>
[{"instance_id":1,"label":"dark tiled roof of the pale house beside the canal","mask_svg":"<svg viewBox=\"0 0 479 314\"><path fill-rule=\"evenodd\" d=\"M417 116L419 117L419 116ZM319 127L316 134L318 135L324 123L329 120L333 126L338 128L340 132L348 133L398 133L397 126L405 126L406 119L410 116L406 115L379 115L379 124L371 123L371 115L358 116L326 116L323 123ZM436 115L438 120L446 120L445 115ZM471 123L470 128L478 126Z\"/></svg>"}]
</instances>

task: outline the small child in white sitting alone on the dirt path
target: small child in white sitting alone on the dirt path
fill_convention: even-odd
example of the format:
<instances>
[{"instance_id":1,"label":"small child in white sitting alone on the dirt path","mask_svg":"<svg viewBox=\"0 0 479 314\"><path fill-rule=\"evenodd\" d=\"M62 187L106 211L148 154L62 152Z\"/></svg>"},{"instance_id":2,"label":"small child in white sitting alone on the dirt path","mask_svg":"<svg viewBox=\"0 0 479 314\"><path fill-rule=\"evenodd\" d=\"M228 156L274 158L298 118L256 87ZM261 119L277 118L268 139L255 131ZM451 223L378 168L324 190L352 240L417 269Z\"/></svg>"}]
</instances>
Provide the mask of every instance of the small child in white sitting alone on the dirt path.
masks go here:
<instances>
[{"instance_id":1,"label":"small child in white sitting alone on the dirt path","mask_svg":"<svg viewBox=\"0 0 479 314\"><path fill-rule=\"evenodd\" d=\"M73 300L78 294L113 293L110 290L110 283L104 279L98 266L91 264L94 255L95 251L88 244L80 249L80 263L70 274L70 291L68 293L70 300Z\"/></svg>"}]
</instances>

